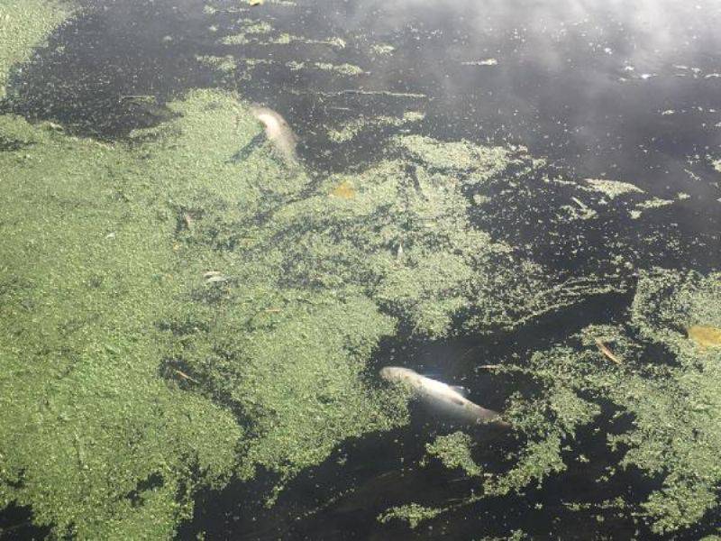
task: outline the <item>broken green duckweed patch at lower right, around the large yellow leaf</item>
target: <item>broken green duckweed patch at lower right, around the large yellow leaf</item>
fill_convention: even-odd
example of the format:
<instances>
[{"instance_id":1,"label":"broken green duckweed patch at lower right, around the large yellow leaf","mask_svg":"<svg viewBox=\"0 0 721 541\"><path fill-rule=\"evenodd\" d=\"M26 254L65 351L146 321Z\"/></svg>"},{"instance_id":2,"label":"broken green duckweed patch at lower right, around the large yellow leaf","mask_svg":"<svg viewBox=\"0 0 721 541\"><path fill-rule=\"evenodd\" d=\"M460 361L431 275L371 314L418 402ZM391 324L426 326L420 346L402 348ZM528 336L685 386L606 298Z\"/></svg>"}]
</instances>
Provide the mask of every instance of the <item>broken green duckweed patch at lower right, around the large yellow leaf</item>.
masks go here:
<instances>
[{"instance_id":1,"label":"broken green duckweed patch at lower right, around the large yellow leaf","mask_svg":"<svg viewBox=\"0 0 721 541\"><path fill-rule=\"evenodd\" d=\"M507 471L484 474L480 493L444 510L541 485L564 472L570 460L589 463L576 436L597 425L610 404L614 418L627 416L633 423L621 432L600 433L608 450L622 451L622 457L597 482L609 483L628 469L661 481L641 502L618 494L616 508L644 518L657 534L683 531L717 512L721 352L699 347L686 328L700 322L716 328L720 320L721 274L644 271L627 321L588 326L564 344L534 353L525 365L501 366L500 371L525 371L539 384L532 395L517 393L508 401L505 416L524 444L507 457ZM597 341L623 364L609 362ZM662 352L671 358L659 359ZM464 468L470 442L462 433L443 436L438 444L428 450L447 467ZM473 464L480 465L470 463L475 472ZM591 509L597 504L564 505Z\"/></svg>"}]
</instances>

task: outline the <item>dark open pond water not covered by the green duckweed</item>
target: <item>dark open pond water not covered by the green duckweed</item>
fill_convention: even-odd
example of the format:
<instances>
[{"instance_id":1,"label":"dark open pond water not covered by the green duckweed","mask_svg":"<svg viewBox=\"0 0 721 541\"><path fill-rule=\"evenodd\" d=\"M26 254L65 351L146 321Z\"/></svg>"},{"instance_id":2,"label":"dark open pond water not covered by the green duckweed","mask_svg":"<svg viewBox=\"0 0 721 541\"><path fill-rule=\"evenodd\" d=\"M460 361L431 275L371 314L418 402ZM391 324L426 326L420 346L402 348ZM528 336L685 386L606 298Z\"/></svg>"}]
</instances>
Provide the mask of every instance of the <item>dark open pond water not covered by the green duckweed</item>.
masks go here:
<instances>
[{"instance_id":1,"label":"dark open pond water not covered by the green duckweed","mask_svg":"<svg viewBox=\"0 0 721 541\"><path fill-rule=\"evenodd\" d=\"M424 120L403 129L441 140L521 144L547 157L549 170L558 174L631 181L649 196L689 195L640 225L607 216L588 225L582 245L560 243L557 235L535 226L552 212L545 192L526 209L525 220L499 207L476 217L498 239L516 246L533 241L528 255L535 261L565 272L602 268L611 245L625 243L633 262L625 276L629 288L638 268L668 264L705 271L721 261L721 174L707 159L721 157L718 3L322 0L266 4L240 14L230 1L212 5L213 13L197 0L88 1L83 14L52 36L49 48L15 73L3 106L82 135L119 139L133 128L167 120L164 103L188 88L235 89L286 116L301 137L303 158L319 172L369 165L399 130L378 127L336 143L327 129L369 115L420 111ZM269 44L263 35L243 45L220 44L225 35L239 32L241 17L268 21L275 33L341 38L345 47ZM374 50L378 44L392 46L392 54ZM219 76L198 60L204 55L233 55L243 69ZM245 68L242 59L270 63ZM496 63L474 64L490 64L490 59ZM290 69L292 61L347 62L365 73L344 77ZM123 96L156 101L143 105ZM517 210L514 205L508 201ZM658 243L638 242L653 232ZM562 233L575 238L572 231ZM670 241L679 248L666 250ZM502 408L525 382L502 381L479 371L479 364L522 358L590 323L619 320L630 300L625 293L590 298L523 331L483 339L384 344L378 366L405 364L434 373L468 387L471 399ZM607 430L617 429L610 417L606 422ZM484 500L413 531L395 522L380 524L376 517L390 506L443 504L469 493L470 481L454 478L437 464L409 465L424 454L434 434L451 431L452 426L429 424L416 415L403 430L343 445L292 481L271 509L263 506L275 481L271 476L200 494L196 516L179 537L206 531L209 539L470 539L521 528L538 538L649 535L630 514L618 516L611 509L600 512L605 516L598 521L598 510L570 513L561 502L580 497L598 502L618 494L638 501L653 482L628 472L614 486L600 489L592 482L596 472L573 468L523 497ZM500 456L512 445L502 433L475 437L483 442L479 460ZM606 454L598 433L579 438L587 454L598 454L596 463L617 458ZM16 534L23 536L17 532L23 531L25 511L13 512L20 517ZM709 526L698 525L689 538Z\"/></svg>"}]
</instances>

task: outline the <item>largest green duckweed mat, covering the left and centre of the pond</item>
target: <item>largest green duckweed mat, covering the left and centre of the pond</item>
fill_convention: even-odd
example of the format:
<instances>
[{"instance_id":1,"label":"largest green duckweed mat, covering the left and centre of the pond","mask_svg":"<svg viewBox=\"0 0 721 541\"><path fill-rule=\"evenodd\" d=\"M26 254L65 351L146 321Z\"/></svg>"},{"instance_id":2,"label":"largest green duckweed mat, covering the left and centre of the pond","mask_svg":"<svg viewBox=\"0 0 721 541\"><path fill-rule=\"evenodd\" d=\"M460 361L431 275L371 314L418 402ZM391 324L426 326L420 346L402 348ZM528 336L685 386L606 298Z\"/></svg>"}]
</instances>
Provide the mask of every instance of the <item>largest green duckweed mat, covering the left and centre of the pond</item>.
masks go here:
<instances>
[{"instance_id":1,"label":"largest green duckweed mat, covering the left and centre of the pond","mask_svg":"<svg viewBox=\"0 0 721 541\"><path fill-rule=\"evenodd\" d=\"M401 154L416 142L433 149L429 162L408 171L387 160L309 191L303 170L265 147L230 160L261 129L233 96L196 91L169 111L171 122L129 145L3 117L5 136L31 145L2 156L15 179L4 189L25 201L4 215L4 347L16 368L3 383L17 406L32 411L27 400L42 395L57 411L27 432L27 412L7 409L22 424L7 425L4 501L80 537L132 535L150 514L163 517L154 535L168 536L197 487L259 468L278 475L272 502L344 439L406 422L406 397L364 373L399 323L447 335L476 307L469 325L483 332L534 316L543 306L536 296L524 310L525 298L552 289L519 285L543 269L468 220L461 188L500 173L502 151L450 144L455 158L470 153L461 174L444 171L459 162L443 142L400 138ZM329 196L345 181L355 197ZM207 271L225 279L208 282ZM55 382L64 370L75 375ZM112 481L86 472L118 464L124 477ZM135 488L148 479L162 482Z\"/></svg>"}]
</instances>

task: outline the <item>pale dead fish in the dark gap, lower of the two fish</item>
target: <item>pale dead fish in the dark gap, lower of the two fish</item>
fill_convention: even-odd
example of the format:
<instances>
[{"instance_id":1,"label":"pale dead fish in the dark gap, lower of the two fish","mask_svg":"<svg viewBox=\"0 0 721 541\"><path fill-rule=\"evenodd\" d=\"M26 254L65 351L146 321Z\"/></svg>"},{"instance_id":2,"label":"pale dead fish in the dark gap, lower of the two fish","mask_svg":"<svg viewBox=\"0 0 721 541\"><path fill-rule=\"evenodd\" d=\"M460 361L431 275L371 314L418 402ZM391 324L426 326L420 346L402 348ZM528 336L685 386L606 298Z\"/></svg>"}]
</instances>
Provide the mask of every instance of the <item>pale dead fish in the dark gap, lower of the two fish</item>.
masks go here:
<instances>
[{"instance_id":1,"label":"pale dead fish in the dark gap, lower of the two fish","mask_svg":"<svg viewBox=\"0 0 721 541\"><path fill-rule=\"evenodd\" d=\"M422 376L416 371L400 366L386 366L380 369L380 377L392 383L408 385L426 405L440 408L452 417L470 424L495 422L507 426L496 411L481 408L461 394L458 387Z\"/></svg>"}]
</instances>

